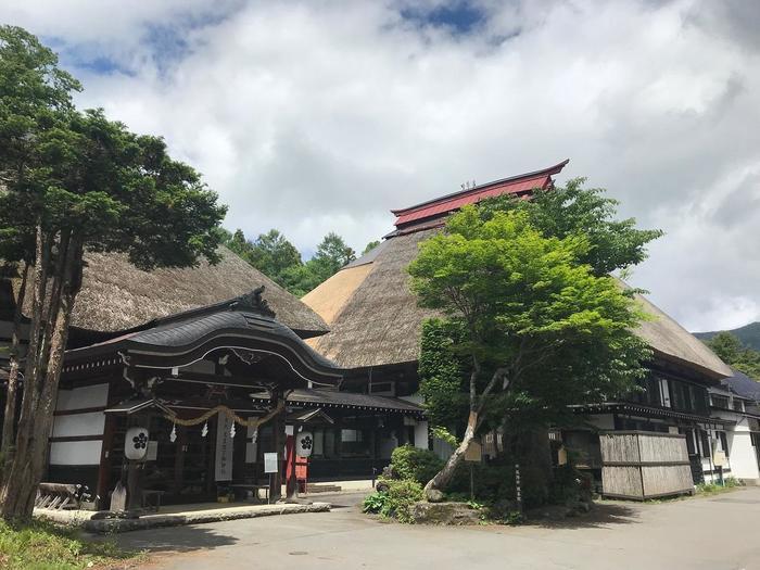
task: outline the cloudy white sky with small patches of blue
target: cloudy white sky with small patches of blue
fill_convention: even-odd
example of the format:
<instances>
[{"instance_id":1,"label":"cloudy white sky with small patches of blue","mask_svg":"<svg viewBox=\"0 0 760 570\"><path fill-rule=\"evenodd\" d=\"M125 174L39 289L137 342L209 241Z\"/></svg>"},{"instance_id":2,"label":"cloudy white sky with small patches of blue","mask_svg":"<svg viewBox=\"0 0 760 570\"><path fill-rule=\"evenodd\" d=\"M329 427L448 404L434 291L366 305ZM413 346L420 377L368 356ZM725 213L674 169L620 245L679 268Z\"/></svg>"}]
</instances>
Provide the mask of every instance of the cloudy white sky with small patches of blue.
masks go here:
<instances>
[{"instance_id":1,"label":"cloudy white sky with small patches of blue","mask_svg":"<svg viewBox=\"0 0 760 570\"><path fill-rule=\"evenodd\" d=\"M570 159L666 236L630 281L689 330L760 320L760 2L5 0L132 130L308 256L391 208Z\"/></svg>"}]
</instances>

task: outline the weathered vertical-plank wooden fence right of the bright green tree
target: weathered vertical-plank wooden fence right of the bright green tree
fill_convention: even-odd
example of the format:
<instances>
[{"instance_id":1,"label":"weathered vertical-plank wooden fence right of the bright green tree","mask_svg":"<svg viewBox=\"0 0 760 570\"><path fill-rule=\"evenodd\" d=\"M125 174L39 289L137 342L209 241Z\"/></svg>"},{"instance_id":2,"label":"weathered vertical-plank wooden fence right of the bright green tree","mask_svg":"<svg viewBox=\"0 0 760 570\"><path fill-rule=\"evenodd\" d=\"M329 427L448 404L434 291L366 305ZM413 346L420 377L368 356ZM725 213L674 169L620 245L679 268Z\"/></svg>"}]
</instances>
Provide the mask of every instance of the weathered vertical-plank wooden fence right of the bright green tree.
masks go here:
<instances>
[{"instance_id":1,"label":"weathered vertical-plank wooden fence right of the bright green tree","mask_svg":"<svg viewBox=\"0 0 760 570\"><path fill-rule=\"evenodd\" d=\"M608 431L599 433L599 447L605 496L643 501L694 492L685 435Z\"/></svg>"}]
</instances>

